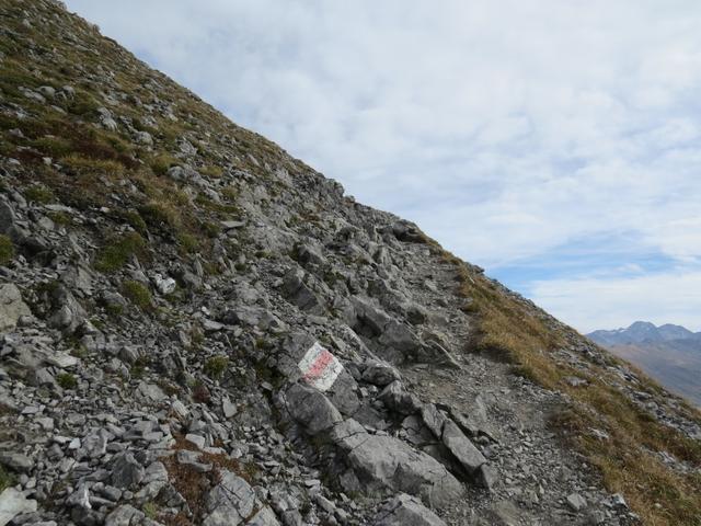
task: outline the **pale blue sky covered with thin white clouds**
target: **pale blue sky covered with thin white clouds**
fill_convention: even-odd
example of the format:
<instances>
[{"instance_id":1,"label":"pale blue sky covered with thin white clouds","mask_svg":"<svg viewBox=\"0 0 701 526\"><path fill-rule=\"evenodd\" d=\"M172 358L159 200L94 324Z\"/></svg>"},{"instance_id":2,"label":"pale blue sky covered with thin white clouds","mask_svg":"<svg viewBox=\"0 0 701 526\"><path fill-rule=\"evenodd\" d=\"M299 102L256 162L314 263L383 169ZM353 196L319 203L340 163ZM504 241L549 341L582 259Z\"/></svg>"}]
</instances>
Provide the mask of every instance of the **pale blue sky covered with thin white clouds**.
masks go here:
<instances>
[{"instance_id":1,"label":"pale blue sky covered with thin white clouds","mask_svg":"<svg viewBox=\"0 0 701 526\"><path fill-rule=\"evenodd\" d=\"M579 331L701 330L701 2L66 3Z\"/></svg>"}]
</instances>

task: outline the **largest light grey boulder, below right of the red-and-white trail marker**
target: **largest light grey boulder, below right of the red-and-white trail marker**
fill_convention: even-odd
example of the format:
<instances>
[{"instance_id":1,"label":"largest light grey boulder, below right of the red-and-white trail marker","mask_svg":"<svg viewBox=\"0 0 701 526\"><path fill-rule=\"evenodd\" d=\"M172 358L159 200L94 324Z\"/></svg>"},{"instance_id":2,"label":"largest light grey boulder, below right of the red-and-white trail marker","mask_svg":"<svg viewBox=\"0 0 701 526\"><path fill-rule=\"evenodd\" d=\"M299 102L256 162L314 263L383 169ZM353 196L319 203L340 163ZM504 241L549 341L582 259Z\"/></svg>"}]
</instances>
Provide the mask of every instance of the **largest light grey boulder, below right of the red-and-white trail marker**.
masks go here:
<instances>
[{"instance_id":1,"label":"largest light grey boulder, below right of the red-and-white trail marker","mask_svg":"<svg viewBox=\"0 0 701 526\"><path fill-rule=\"evenodd\" d=\"M331 437L366 492L403 491L434 507L462 495L462 484L433 457L389 435L371 435L355 420L336 425Z\"/></svg>"}]
</instances>

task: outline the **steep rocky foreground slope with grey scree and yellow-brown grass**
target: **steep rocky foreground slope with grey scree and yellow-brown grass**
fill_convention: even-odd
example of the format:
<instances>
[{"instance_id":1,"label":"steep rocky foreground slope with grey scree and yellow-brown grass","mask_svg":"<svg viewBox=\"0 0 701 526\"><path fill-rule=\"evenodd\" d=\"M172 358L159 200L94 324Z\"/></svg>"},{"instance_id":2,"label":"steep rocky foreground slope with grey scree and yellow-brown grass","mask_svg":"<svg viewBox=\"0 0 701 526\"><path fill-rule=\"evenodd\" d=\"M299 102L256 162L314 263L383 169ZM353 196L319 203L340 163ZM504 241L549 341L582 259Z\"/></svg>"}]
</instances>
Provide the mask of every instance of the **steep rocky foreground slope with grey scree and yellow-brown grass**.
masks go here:
<instances>
[{"instance_id":1,"label":"steep rocky foreground slope with grey scree and yellow-brown grass","mask_svg":"<svg viewBox=\"0 0 701 526\"><path fill-rule=\"evenodd\" d=\"M0 525L699 524L680 400L59 2L0 21Z\"/></svg>"}]
</instances>

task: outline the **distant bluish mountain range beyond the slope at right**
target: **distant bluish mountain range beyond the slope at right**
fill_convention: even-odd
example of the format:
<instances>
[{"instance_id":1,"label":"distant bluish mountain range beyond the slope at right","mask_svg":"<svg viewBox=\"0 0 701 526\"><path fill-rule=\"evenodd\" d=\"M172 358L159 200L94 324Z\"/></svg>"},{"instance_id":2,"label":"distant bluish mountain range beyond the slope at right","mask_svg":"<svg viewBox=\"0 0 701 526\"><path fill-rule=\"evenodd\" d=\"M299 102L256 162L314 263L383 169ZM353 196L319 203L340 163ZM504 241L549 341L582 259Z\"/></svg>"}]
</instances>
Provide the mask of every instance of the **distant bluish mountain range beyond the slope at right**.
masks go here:
<instances>
[{"instance_id":1,"label":"distant bluish mountain range beyond the slope at right","mask_svg":"<svg viewBox=\"0 0 701 526\"><path fill-rule=\"evenodd\" d=\"M701 407L701 332L636 321L628 329L599 330L587 336Z\"/></svg>"}]
</instances>

